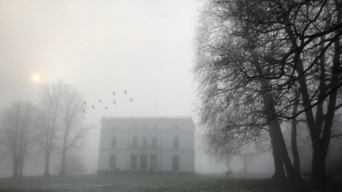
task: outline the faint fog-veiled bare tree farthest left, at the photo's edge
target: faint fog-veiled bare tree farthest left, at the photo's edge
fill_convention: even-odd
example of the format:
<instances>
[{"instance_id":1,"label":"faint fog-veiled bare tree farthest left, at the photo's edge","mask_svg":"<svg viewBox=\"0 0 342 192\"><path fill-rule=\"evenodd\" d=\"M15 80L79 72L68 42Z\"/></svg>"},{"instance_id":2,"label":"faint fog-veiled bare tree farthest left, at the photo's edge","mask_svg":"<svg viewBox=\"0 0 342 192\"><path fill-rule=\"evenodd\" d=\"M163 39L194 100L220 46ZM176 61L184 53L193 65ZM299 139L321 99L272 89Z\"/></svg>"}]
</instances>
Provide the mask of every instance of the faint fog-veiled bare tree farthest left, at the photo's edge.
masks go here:
<instances>
[{"instance_id":1,"label":"faint fog-veiled bare tree farthest left, at the photo's edge","mask_svg":"<svg viewBox=\"0 0 342 192\"><path fill-rule=\"evenodd\" d=\"M23 176L25 155L37 139L38 117L37 108L30 102L13 102L3 111L0 141L13 161L13 178Z\"/></svg>"}]
</instances>

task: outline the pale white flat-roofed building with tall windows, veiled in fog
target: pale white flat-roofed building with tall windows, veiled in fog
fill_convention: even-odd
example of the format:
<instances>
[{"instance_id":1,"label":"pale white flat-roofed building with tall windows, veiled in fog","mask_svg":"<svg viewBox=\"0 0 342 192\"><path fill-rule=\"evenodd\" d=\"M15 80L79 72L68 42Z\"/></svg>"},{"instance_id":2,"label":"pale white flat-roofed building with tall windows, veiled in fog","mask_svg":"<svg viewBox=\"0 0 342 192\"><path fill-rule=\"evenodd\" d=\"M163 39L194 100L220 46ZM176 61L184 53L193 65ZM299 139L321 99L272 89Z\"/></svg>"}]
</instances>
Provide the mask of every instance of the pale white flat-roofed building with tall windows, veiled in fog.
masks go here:
<instances>
[{"instance_id":1,"label":"pale white flat-roofed building with tall windows, veiled in fog","mask_svg":"<svg viewBox=\"0 0 342 192\"><path fill-rule=\"evenodd\" d=\"M98 173L194 172L194 130L191 117L103 117Z\"/></svg>"}]
</instances>

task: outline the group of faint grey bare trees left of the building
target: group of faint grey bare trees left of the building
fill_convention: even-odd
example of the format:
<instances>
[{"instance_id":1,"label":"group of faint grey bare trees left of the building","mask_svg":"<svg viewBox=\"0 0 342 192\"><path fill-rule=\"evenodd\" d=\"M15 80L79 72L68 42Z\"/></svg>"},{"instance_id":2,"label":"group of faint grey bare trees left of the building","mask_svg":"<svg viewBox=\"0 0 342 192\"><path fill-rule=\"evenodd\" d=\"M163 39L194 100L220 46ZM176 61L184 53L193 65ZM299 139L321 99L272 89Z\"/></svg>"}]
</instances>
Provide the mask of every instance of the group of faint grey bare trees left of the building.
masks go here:
<instances>
[{"instance_id":1,"label":"group of faint grey bare trees left of the building","mask_svg":"<svg viewBox=\"0 0 342 192\"><path fill-rule=\"evenodd\" d=\"M42 88L37 105L14 101L0 119L0 149L12 159L12 178L23 176L29 154L44 154L44 176L50 175L52 152L60 152L60 175L66 174L66 154L83 145L90 127L82 123L82 96L63 81ZM73 156L75 159L75 156Z\"/></svg>"}]
</instances>

